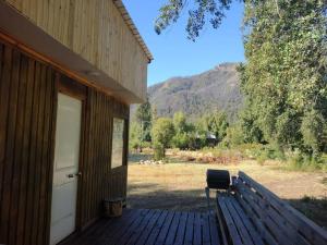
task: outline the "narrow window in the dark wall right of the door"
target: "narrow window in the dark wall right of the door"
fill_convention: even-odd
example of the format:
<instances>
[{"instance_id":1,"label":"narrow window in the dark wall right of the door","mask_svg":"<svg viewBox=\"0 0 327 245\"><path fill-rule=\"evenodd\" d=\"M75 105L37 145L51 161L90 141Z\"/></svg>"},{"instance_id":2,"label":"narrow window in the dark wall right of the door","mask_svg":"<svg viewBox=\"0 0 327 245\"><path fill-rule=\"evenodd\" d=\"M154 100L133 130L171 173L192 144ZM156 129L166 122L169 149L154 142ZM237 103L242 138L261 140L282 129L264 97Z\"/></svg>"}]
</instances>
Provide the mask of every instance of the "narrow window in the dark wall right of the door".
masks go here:
<instances>
[{"instance_id":1,"label":"narrow window in the dark wall right of the door","mask_svg":"<svg viewBox=\"0 0 327 245\"><path fill-rule=\"evenodd\" d=\"M124 146L124 120L113 119L111 169L122 166Z\"/></svg>"}]
</instances>

